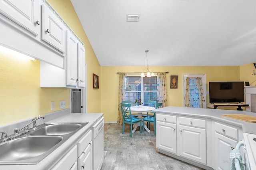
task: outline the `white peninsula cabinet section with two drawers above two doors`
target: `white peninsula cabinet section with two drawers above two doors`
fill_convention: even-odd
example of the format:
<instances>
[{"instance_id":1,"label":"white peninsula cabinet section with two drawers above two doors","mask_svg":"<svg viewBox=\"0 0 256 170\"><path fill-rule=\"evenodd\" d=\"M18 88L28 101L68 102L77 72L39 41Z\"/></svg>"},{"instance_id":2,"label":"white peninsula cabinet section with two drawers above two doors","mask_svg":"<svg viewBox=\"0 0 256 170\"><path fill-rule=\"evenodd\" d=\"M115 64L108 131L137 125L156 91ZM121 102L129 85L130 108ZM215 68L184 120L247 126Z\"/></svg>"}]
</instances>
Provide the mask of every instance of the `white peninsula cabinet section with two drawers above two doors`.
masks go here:
<instances>
[{"instance_id":1,"label":"white peninsula cabinet section with two drawers above two doors","mask_svg":"<svg viewBox=\"0 0 256 170\"><path fill-rule=\"evenodd\" d=\"M206 120L156 114L156 148L206 164Z\"/></svg>"}]
</instances>

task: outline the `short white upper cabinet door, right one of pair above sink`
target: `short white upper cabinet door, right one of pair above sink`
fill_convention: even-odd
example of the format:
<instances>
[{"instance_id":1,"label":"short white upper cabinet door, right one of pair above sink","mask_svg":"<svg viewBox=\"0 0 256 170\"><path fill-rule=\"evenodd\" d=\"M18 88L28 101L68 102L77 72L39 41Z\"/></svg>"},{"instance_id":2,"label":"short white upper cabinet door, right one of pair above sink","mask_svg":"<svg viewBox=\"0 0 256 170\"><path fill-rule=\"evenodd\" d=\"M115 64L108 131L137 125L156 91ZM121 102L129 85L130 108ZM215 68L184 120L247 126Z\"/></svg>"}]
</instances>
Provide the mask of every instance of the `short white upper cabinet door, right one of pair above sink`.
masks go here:
<instances>
[{"instance_id":1,"label":"short white upper cabinet door, right one of pair above sink","mask_svg":"<svg viewBox=\"0 0 256 170\"><path fill-rule=\"evenodd\" d=\"M66 51L66 27L45 5L42 5L42 40L60 52Z\"/></svg>"}]
</instances>

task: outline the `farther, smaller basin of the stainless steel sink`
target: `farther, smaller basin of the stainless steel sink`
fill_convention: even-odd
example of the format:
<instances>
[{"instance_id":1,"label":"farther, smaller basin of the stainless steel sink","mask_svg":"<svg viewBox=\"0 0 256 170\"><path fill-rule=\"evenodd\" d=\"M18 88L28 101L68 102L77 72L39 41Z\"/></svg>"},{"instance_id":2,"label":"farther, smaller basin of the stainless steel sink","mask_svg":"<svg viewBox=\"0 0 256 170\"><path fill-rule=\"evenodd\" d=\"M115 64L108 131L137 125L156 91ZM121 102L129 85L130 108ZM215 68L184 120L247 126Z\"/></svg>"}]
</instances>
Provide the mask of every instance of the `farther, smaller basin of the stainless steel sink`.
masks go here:
<instances>
[{"instance_id":1,"label":"farther, smaller basin of the stainless steel sink","mask_svg":"<svg viewBox=\"0 0 256 170\"><path fill-rule=\"evenodd\" d=\"M30 135L64 135L75 132L82 125L75 124L44 124L45 127L38 128L30 133Z\"/></svg>"}]
</instances>

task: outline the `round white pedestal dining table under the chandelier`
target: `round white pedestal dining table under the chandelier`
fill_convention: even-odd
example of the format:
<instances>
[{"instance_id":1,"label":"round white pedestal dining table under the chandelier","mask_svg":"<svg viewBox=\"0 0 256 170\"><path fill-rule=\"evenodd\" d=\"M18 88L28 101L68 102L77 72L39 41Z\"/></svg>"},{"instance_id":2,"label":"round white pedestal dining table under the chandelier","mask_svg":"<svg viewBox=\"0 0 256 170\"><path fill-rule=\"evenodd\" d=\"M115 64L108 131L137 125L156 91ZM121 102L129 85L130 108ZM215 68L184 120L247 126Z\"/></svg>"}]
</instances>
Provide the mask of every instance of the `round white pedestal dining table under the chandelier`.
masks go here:
<instances>
[{"instance_id":1,"label":"round white pedestal dining table under the chandelier","mask_svg":"<svg viewBox=\"0 0 256 170\"><path fill-rule=\"evenodd\" d=\"M138 119L142 119L142 113L152 112L155 109L156 109L155 107L150 107L150 106L141 106L141 107L131 106L130 111L138 113ZM139 126L140 126L140 122L136 123L132 132L134 133L136 131L136 128ZM144 128L147 132L150 132L150 130L148 129L148 127L146 125L144 125Z\"/></svg>"}]
</instances>

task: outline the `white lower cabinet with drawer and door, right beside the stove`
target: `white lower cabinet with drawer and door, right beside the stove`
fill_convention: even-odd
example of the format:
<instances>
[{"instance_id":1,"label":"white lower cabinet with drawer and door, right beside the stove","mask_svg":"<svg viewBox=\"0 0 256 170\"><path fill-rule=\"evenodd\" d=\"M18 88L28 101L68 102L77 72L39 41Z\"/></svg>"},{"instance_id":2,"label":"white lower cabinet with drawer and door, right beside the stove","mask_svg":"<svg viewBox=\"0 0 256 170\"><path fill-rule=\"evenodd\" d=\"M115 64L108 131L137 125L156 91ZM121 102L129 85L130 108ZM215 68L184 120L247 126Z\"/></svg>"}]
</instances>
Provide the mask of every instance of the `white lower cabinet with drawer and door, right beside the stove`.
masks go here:
<instances>
[{"instance_id":1,"label":"white lower cabinet with drawer and door, right beside the stove","mask_svg":"<svg viewBox=\"0 0 256 170\"><path fill-rule=\"evenodd\" d=\"M230 170L230 153L238 143L238 129L216 122L214 124L214 169Z\"/></svg>"}]
</instances>

